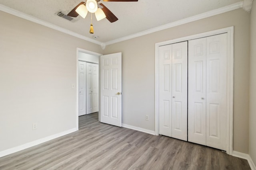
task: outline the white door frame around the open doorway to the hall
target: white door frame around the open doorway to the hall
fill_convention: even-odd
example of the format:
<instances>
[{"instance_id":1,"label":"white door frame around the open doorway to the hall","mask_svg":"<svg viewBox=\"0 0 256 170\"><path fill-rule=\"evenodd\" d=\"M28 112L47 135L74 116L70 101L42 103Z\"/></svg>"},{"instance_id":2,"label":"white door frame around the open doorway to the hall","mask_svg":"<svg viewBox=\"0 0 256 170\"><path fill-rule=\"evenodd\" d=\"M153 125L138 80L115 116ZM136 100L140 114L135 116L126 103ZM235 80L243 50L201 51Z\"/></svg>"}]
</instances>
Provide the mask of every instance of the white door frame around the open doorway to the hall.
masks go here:
<instances>
[{"instance_id":1,"label":"white door frame around the open doorway to the hall","mask_svg":"<svg viewBox=\"0 0 256 170\"><path fill-rule=\"evenodd\" d=\"M81 52L81 53L86 53L86 54L90 54L90 55L95 55L95 56L98 56L99 58L100 58L100 56L102 55L102 54L100 54L100 53L96 53L96 52L93 52L93 51L88 51L88 50L85 50L85 49L81 49L81 48L76 48L76 114L75 114L75 116L76 116L76 130L78 131L78 104L79 104L79 102L78 102L78 99L79 99L79 95L78 95L78 93L79 93L79 87L78 87L78 80L79 80L79 64L78 64L78 61L84 61L84 60L79 60L78 59L78 53L79 52ZM86 61L85 61L86 62ZM99 62L99 69L100 69L100 62ZM99 74L99 87L100 87L100 74ZM100 88L99 88L100 89ZM100 108L100 90L99 90L99 92L98 92L98 94L99 94L99 98L98 98L98 107ZM100 109L99 109L99 111L98 111L98 114L99 114L99 120L100 120Z\"/></svg>"}]
</instances>

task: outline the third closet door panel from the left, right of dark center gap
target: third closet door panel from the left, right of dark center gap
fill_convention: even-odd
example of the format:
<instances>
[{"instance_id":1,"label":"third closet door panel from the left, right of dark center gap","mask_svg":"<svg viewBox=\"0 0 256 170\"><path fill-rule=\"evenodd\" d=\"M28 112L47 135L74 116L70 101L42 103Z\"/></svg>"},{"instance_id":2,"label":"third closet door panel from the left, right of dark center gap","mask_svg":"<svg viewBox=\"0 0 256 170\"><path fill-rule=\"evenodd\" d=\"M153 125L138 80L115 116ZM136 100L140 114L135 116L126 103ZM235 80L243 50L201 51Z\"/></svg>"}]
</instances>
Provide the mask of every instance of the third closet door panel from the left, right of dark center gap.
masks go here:
<instances>
[{"instance_id":1,"label":"third closet door panel from the left, right of dark center gap","mask_svg":"<svg viewBox=\"0 0 256 170\"><path fill-rule=\"evenodd\" d=\"M206 145L206 38L188 41L188 141Z\"/></svg>"}]
</instances>

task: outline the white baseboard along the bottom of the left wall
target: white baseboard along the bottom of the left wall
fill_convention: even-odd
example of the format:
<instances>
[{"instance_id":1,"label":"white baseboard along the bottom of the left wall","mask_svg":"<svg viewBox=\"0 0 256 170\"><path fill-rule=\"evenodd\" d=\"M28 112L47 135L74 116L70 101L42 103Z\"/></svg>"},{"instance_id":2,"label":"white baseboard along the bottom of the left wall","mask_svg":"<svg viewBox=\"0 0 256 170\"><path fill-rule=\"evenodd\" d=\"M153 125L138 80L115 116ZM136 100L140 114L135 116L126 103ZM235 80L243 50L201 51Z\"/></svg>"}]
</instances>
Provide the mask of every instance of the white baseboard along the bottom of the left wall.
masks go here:
<instances>
[{"instance_id":1,"label":"white baseboard along the bottom of the left wall","mask_svg":"<svg viewBox=\"0 0 256 170\"><path fill-rule=\"evenodd\" d=\"M52 139L55 139L55 138L58 138L58 137L61 137L61 136L64 136L64 135L67 135L69 133L72 133L74 131L77 131L76 128L73 128L73 129L69 129L67 131L64 131L64 132L60 132L60 133L57 133L57 134L54 134L54 135L51 135L51 136L48 136L48 137L44 137L42 139L38 139L36 141L32 141L32 142L29 142L29 143L25 143L23 145L20 145L18 147L14 147L14 148L10 148L10 149L7 149L7 150L3 150L0 152L0 157L2 156L6 156L8 154L12 154L14 152L18 152L20 150L23 150L23 149L27 149L27 148L30 148L30 147L34 147L36 145L39 145L41 143L44 143L44 142L47 142L47 141L50 141Z\"/></svg>"}]
</instances>

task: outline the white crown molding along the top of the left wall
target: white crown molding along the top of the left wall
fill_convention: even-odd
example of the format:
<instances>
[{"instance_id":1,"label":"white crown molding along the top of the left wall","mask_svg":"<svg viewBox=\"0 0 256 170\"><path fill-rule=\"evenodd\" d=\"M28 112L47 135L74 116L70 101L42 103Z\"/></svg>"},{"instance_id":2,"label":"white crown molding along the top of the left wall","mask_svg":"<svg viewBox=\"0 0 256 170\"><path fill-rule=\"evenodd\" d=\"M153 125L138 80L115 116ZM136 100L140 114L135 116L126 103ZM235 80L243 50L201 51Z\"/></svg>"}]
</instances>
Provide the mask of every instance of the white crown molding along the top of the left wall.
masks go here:
<instances>
[{"instance_id":1,"label":"white crown molding along the top of the left wall","mask_svg":"<svg viewBox=\"0 0 256 170\"><path fill-rule=\"evenodd\" d=\"M88 38L88 37L85 37L84 35L75 33L75 32L70 31L70 30L68 30L68 29L64 29L64 28L59 27L59 26L57 26L57 25L54 25L54 24L52 24L52 23L49 23L49 22L40 20L40 19L38 19L38 18L35 18L35 17L30 16L30 15L28 15L28 14L19 12L19 11L17 11L17 10L14 10L14 9L9 8L9 7L7 7L7 6L4 6L4 5L2 5L2 4L0 4L0 10L3 11L3 12L6 12L6 13L12 14L12 15L14 15L14 16L23 18L23 19L25 19L25 20L32 21L32 22L34 22L34 23L38 23L38 24L40 24L40 25L44 25L44 26L46 26L46 27L55 29L55 30L57 30L57 31L66 33L66 34L68 34L68 35L72 35L72 36L74 36L74 37L77 37L77 38L80 38L80 39L89 41L89 42L91 42L91 43L98 44L98 45L102 45L102 42L100 42L100 41L96 41L96 40L94 40L94 39L90 39L90 38Z\"/></svg>"}]
</instances>

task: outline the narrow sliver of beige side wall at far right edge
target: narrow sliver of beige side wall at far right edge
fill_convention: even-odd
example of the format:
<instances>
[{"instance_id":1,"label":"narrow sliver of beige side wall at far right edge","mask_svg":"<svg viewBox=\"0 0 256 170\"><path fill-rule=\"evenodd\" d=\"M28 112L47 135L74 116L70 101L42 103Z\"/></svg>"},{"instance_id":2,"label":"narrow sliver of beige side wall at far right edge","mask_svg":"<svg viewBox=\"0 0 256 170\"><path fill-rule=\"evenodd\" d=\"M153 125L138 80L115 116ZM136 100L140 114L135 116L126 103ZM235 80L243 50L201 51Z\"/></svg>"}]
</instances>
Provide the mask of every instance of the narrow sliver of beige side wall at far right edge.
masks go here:
<instances>
[{"instance_id":1,"label":"narrow sliver of beige side wall at far right edge","mask_svg":"<svg viewBox=\"0 0 256 170\"><path fill-rule=\"evenodd\" d=\"M249 154L256 165L256 2L251 12Z\"/></svg>"}]
</instances>

